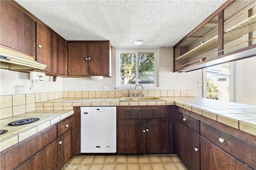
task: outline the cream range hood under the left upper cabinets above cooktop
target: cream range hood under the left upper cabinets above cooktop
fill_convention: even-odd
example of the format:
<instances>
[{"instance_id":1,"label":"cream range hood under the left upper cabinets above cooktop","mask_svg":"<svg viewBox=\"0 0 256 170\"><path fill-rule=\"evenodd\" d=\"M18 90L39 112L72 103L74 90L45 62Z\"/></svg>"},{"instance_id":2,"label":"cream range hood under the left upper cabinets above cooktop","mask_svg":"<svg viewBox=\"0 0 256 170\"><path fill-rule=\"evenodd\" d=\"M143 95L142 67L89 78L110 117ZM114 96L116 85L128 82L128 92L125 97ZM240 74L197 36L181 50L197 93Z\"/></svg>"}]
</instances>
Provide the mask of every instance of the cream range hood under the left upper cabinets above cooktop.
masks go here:
<instances>
[{"instance_id":1,"label":"cream range hood under the left upper cabinets above cooktop","mask_svg":"<svg viewBox=\"0 0 256 170\"><path fill-rule=\"evenodd\" d=\"M3 69L45 69L33 57L0 47L0 67Z\"/></svg>"}]
</instances>

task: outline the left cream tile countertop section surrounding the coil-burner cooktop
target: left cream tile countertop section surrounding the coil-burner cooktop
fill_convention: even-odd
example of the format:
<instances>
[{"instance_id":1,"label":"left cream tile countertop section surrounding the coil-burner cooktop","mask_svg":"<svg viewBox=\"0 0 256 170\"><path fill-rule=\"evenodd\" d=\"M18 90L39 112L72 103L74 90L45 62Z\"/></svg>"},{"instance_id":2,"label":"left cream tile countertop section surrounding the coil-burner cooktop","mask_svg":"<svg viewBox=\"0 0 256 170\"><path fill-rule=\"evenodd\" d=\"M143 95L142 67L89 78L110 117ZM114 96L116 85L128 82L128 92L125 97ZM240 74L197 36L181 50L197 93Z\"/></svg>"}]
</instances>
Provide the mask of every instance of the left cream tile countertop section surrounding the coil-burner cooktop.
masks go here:
<instances>
[{"instance_id":1,"label":"left cream tile countertop section surrounding the coil-burner cooktop","mask_svg":"<svg viewBox=\"0 0 256 170\"><path fill-rule=\"evenodd\" d=\"M40 132L41 130L44 130L47 127L50 127L51 125L54 125L55 123L58 123L59 121L65 119L66 117L69 117L70 115L73 115L74 111L73 110L58 110L58 111L32 111L28 113L24 113L18 116L14 116L12 118L19 118L19 117L41 117L44 118L43 121L40 121L38 123L31 123L30 126L25 126L21 128L8 133L6 135L1 135L0 136L0 152L2 150L5 150L6 148L9 148L10 146L32 136L33 134L36 134L37 132ZM45 119L46 118L46 119ZM8 118L6 118L8 119ZM5 121L5 119L0 120L1 123ZM29 125L29 124L27 124ZM6 125L2 125L1 127L4 127ZM9 130L7 127L6 129ZM12 130L12 129L11 129ZM2 137L3 136L3 137Z\"/></svg>"}]
</instances>

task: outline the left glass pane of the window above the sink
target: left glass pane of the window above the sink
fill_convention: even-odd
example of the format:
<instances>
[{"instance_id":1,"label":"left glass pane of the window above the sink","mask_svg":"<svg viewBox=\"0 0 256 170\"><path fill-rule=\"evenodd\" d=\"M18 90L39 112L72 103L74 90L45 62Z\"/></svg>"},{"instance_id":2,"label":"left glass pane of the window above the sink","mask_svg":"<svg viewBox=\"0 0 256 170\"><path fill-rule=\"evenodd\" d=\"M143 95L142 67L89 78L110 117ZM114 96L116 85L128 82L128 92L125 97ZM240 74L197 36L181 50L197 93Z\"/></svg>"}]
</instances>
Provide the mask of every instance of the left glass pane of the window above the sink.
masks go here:
<instances>
[{"instance_id":1,"label":"left glass pane of the window above the sink","mask_svg":"<svg viewBox=\"0 0 256 170\"><path fill-rule=\"evenodd\" d=\"M136 83L136 54L120 53L120 84Z\"/></svg>"}]
</instances>

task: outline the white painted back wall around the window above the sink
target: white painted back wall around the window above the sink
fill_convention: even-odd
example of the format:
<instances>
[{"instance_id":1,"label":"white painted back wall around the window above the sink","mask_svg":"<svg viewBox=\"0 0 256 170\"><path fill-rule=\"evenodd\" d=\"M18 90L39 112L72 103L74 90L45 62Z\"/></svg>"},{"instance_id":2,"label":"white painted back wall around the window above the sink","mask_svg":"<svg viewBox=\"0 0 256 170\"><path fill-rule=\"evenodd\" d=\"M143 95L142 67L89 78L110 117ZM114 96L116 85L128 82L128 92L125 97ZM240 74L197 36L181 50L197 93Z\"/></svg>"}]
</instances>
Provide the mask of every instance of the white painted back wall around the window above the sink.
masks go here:
<instances>
[{"instance_id":1,"label":"white painted back wall around the window above the sink","mask_svg":"<svg viewBox=\"0 0 256 170\"><path fill-rule=\"evenodd\" d=\"M194 90L194 96L202 97L202 86L197 86L196 81L202 81L202 70L188 73L172 73L173 48L161 47L159 49L159 90ZM103 80L90 78L63 78L63 91L98 91L103 90L103 85L108 85L109 90L116 87L116 48L112 48L112 77Z\"/></svg>"}]
</instances>

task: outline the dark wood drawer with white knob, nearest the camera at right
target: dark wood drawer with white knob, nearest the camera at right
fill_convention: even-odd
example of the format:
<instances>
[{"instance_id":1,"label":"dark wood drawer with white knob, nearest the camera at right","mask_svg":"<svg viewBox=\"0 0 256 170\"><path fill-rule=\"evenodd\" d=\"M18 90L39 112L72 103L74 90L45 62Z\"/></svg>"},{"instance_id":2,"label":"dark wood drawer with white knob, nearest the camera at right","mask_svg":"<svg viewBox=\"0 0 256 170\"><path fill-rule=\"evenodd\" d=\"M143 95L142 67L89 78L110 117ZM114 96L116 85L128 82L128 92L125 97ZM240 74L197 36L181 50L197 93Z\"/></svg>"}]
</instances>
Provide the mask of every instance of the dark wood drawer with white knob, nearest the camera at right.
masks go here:
<instances>
[{"instance_id":1,"label":"dark wood drawer with white knob, nearest the camera at right","mask_svg":"<svg viewBox=\"0 0 256 170\"><path fill-rule=\"evenodd\" d=\"M249 167L256 169L256 146L207 123L200 123L201 136L222 148Z\"/></svg>"}]
</instances>

